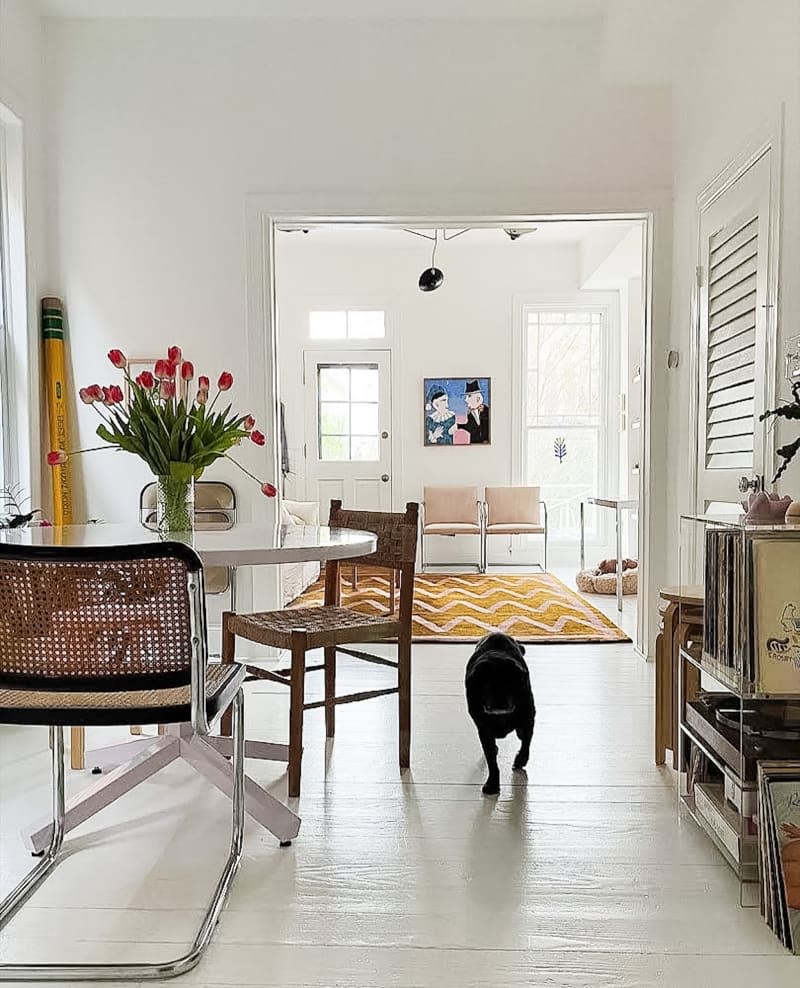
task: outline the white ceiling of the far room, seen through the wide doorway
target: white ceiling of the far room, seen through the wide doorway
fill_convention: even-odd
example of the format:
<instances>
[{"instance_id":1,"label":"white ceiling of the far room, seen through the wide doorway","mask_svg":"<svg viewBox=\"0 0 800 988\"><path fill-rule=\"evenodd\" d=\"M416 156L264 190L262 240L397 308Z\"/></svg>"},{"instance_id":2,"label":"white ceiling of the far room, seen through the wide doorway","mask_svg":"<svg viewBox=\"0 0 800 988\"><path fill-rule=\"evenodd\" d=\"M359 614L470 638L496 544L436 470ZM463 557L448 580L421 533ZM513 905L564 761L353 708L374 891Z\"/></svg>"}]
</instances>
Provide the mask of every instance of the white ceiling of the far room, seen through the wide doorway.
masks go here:
<instances>
[{"instance_id":1,"label":"white ceiling of the far room, seen through the wide doorway","mask_svg":"<svg viewBox=\"0 0 800 988\"><path fill-rule=\"evenodd\" d=\"M618 227L620 239L634 224L626 220L604 220L603 225ZM545 222L537 223L536 229L532 233L526 233L519 239L512 241L502 229L472 229L468 233L458 237L459 247L503 247L507 246L513 250L525 250L531 247L542 247L550 244L580 244L584 238L597 228L597 221L570 221L570 222ZM422 230L421 227L416 227ZM431 230L426 230L429 235ZM447 231L448 237L456 230ZM411 233L397 227L353 227L353 226L317 226L311 228L309 233L304 234L299 231L293 233L278 232L278 242L281 245L303 244L303 246L353 246L353 247L384 247L384 248L412 248L419 250L424 244L420 237L415 237Z\"/></svg>"}]
</instances>

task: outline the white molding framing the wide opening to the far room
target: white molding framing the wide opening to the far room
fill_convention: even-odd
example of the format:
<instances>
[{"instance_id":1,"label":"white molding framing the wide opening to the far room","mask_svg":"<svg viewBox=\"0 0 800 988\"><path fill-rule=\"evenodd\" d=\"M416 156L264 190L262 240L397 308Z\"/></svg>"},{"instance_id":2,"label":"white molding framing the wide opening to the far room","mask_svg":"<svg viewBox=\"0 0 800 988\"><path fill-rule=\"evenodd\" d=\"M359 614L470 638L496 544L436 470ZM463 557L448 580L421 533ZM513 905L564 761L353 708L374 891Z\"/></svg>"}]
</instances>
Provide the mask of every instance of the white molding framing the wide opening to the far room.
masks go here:
<instances>
[{"instance_id":1,"label":"white molding framing the wide opening to the far room","mask_svg":"<svg viewBox=\"0 0 800 988\"><path fill-rule=\"evenodd\" d=\"M278 334L276 312L276 269L275 232L280 226L313 226L315 224L343 224L355 227L398 226L398 227L449 227L504 228L518 225L537 225L553 222L605 222L608 220L638 220L643 223L643 244L645 270L642 279L644 341L642 351L642 458L639 472L639 525L640 525L640 602L637 630L637 651L644 658L653 655L655 629L657 626L657 585L663 584L663 565L658 556L651 552L652 529L656 524L663 525L663 498L650 490L653 473L652 448L654 413L659 412L665 399L666 384L654 373L653 363L653 317L655 292L658 288L659 313L662 322L667 319L665 298L668 287L663 272L669 269L667 260L668 241L663 231L666 229L664 217L669 215L671 198L666 190L637 191L633 194L610 192L600 196L587 196L580 193L545 195L539 202L539 211L519 209L505 201L502 194L459 193L456 196L443 195L443 202L458 203L449 213L435 208L419 209L419 203L409 204L408 197L398 199L396 193L375 193L365 199L363 194L331 193L299 196L295 194L254 193L246 203L246 257L247 257L247 348L250 367L250 388L258 398L264 413L264 431L277 436L280 403L280 376L278 370ZM331 205L333 203L333 205ZM372 208L370 208L372 203ZM338 206L337 206L338 204ZM387 211L387 204L389 211ZM574 206L580 204L575 210ZM573 208L571 209L570 206ZM583 206L583 208L581 208ZM395 207L395 208L392 208ZM658 227L656 222L658 219ZM659 266L661 277L655 284L653 253L658 238L659 249L665 253ZM663 334L663 330L660 330ZM399 370L400 360L395 361ZM393 414L399 414L399 396L393 403ZM400 423L398 422L398 426ZM398 428L396 426L396 430ZM664 435L655 437L658 448L663 448ZM272 454L273 470L279 476L279 451L276 443L269 450ZM402 469L398 462L397 469ZM659 468L660 469L660 468ZM399 488L399 485L398 485ZM397 489L394 491L397 496ZM645 496L645 495L649 496ZM656 502L655 521L651 498ZM275 505L279 519L280 496ZM661 531L659 527L659 531ZM270 567L261 567L269 570ZM653 571L655 577L653 578ZM651 586L652 584L652 586ZM253 575L253 594L268 594L277 600L277 581L269 575Z\"/></svg>"}]
</instances>

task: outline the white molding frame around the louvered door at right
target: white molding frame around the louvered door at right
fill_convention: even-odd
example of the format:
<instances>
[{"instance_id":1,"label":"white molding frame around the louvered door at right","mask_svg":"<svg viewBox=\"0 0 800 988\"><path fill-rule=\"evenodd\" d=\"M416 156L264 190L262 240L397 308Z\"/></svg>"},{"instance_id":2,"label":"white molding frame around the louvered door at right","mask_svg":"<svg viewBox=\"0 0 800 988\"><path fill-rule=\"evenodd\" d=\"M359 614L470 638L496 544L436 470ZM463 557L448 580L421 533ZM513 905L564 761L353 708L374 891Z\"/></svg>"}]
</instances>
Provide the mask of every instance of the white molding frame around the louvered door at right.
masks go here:
<instances>
[{"instance_id":1,"label":"white molding frame around the louvered door at right","mask_svg":"<svg viewBox=\"0 0 800 988\"><path fill-rule=\"evenodd\" d=\"M774 407L778 379L778 307L780 304L780 219L782 206L782 161L783 161L783 112L776 125L770 125L751 138L733 160L717 174L699 193L695 211L695 271L703 263L702 220L703 214L755 164L769 155L769 216L767 217L767 312L766 312L766 353L764 367L764 400L767 408ZM692 283L690 312L691 339L689 349L689 436L692 455L689 458L690 503L695 512L700 511L697 481L700 472L700 450L697 430L700 424L700 285L695 275ZM771 370L770 370L771 368ZM764 458L775 458L775 433L768 432L764 447Z\"/></svg>"}]
</instances>

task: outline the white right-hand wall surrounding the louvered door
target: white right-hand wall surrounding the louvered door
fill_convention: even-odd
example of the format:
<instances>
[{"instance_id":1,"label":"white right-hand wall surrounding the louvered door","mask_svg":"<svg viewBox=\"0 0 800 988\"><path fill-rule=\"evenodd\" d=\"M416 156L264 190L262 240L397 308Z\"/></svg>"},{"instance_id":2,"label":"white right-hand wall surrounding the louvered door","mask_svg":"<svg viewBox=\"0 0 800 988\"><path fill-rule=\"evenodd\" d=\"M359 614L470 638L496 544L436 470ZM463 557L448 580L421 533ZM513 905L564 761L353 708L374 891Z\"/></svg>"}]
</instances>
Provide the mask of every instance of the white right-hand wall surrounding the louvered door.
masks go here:
<instances>
[{"instance_id":1,"label":"white right-hand wall surrounding the louvered door","mask_svg":"<svg viewBox=\"0 0 800 988\"><path fill-rule=\"evenodd\" d=\"M800 4L768 5L730 0L713 30L698 35L698 57L688 61L674 89L675 167L672 347L681 353L669 373L669 513L666 546L670 582L678 578L678 515L691 507L689 462L690 306L697 264L696 199L703 188L765 128L784 114L781 279L778 327L781 340L800 326ZM778 347L778 393L783 382L783 348ZM663 367L660 369L663 373ZM778 445L797 435L778 427ZM800 496L800 463L781 482Z\"/></svg>"}]
</instances>

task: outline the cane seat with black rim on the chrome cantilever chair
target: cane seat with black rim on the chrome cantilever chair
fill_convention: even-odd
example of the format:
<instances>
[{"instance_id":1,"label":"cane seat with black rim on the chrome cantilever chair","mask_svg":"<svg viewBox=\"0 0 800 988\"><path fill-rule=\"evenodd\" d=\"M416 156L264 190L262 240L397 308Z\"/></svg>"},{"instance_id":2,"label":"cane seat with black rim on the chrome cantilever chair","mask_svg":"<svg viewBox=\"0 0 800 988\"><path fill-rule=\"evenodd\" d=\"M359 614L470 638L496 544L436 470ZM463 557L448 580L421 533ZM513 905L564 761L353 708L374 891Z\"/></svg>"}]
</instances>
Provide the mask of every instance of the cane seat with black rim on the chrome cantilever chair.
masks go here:
<instances>
[{"instance_id":1,"label":"cane seat with black rim on the chrome cantilever chair","mask_svg":"<svg viewBox=\"0 0 800 988\"><path fill-rule=\"evenodd\" d=\"M206 716L215 720L232 702L241 685L241 666L206 667ZM191 686L114 692L68 692L47 689L0 689L0 723L54 726L127 726L179 724L191 720Z\"/></svg>"}]
</instances>

